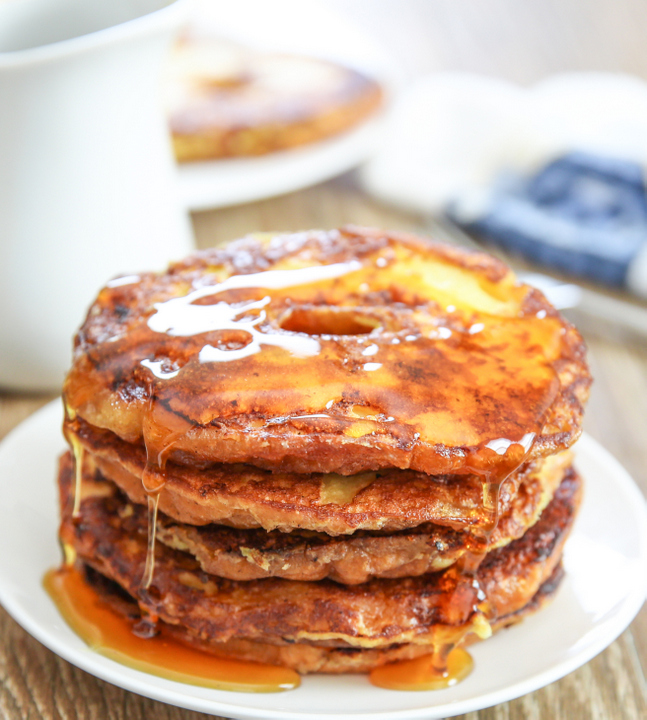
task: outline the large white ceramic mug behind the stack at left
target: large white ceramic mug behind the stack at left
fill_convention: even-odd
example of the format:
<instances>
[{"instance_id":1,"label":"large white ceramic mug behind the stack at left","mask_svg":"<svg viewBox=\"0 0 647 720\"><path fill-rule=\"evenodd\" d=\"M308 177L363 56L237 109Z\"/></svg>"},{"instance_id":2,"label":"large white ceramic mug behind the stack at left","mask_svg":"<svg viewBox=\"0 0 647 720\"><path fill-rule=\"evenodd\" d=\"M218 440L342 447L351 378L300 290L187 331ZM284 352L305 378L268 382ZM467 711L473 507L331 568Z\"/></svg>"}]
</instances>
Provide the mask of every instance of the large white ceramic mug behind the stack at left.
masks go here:
<instances>
[{"instance_id":1,"label":"large white ceramic mug behind the stack at left","mask_svg":"<svg viewBox=\"0 0 647 720\"><path fill-rule=\"evenodd\" d=\"M59 388L98 289L193 247L160 87L188 2L0 2L0 386Z\"/></svg>"}]
</instances>

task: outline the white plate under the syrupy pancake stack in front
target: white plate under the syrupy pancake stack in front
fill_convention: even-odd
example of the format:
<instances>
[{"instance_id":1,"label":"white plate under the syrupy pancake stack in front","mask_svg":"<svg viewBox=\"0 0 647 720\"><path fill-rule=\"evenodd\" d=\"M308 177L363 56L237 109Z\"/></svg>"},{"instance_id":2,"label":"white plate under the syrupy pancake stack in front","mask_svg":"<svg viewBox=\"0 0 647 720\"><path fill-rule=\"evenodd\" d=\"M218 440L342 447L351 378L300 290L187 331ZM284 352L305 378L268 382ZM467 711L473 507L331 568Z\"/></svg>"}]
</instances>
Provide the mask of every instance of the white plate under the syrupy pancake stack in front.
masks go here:
<instances>
[{"instance_id":1,"label":"white plate under the syrupy pancake stack in front","mask_svg":"<svg viewBox=\"0 0 647 720\"><path fill-rule=\"evenodd\" d=\"M365 676L305 677L292 692L228 693L131 670L90 650L43 590L60 561L56 542L56 456L63 450L59 403L14 430L0 446L0 600L35 638L108 682L180 707L230 718L441 718L531 692L602 651L631 622L645 598L645 501L618 462L594 440L577 446L585 500L565 553L566 579L555 601L522 624L473 646L473 673L454 688L394 692ZM604 567L604 573L599 568Z\"/></svg>"}]
</instances>

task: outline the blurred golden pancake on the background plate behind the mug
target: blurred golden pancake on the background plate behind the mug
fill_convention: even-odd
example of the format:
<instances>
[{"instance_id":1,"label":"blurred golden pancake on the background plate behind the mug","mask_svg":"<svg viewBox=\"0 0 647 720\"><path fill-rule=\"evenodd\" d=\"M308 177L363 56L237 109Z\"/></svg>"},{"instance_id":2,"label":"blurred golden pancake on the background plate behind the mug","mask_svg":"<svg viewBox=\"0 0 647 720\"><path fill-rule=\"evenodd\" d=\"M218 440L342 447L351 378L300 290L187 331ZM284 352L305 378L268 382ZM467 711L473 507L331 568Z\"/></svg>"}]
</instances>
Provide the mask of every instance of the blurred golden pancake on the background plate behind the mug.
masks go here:
<instances>
[{"instance_id":1,"label":"blurred golden pancake on the background plate behind the mug","mask_svg":"<svg viewBox=\"0 0 647 720\"><path fill-rule=\"evenodd\" d=\"M313 143L355 127L382 103L379 84L358 70L196 33L176 44L166 89L180 162Z\"/></svg>"}]
</instances>

